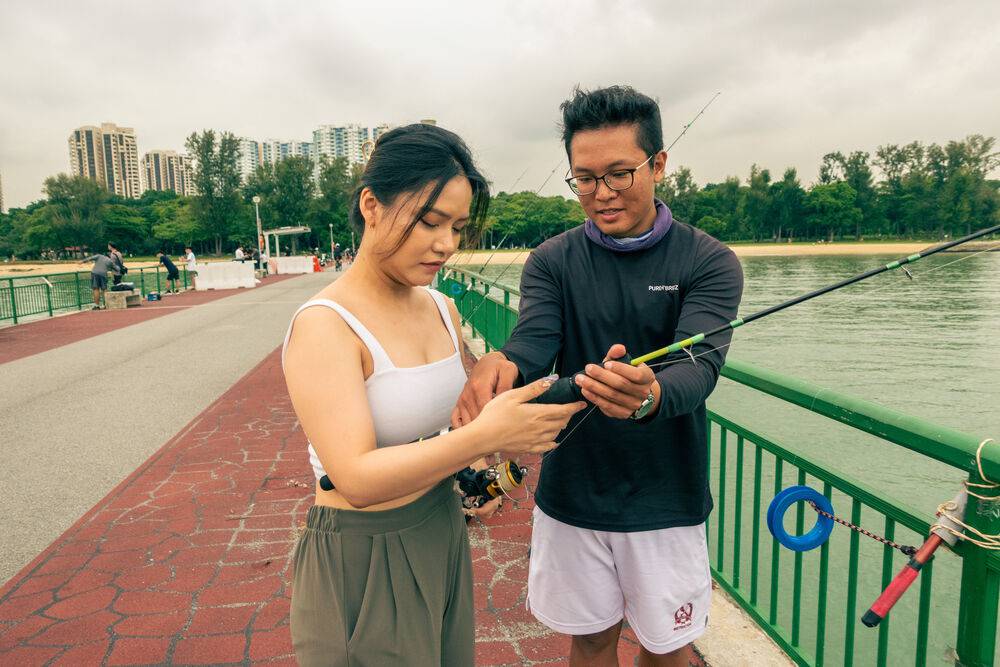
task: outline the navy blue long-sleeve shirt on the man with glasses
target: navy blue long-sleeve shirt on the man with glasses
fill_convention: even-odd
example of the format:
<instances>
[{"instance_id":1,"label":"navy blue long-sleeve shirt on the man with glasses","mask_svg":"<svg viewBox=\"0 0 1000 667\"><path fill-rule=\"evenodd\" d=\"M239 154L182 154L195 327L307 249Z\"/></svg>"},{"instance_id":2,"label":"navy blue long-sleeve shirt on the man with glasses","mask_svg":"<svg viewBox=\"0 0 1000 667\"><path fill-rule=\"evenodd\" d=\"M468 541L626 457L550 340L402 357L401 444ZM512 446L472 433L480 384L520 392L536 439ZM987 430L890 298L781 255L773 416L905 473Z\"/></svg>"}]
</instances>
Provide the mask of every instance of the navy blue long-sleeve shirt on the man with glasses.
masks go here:
<instances>
[{"instance_id":1,"label":"navy blue long-sleeve shirt on the man with glasses","mask_svg":"<svg viewBox=\"0 0 1000 667\"><path fill-rule=\"evenodd\" d=\"M580 226L528 258L517 326L501 351L525 382L553 364L560 376L577 373L614 343L636 357L730 322L742 291L733 252L690 225L674 221L656 245L631 253L590 241ZM672 358L683 363L654 368L662 393L652 418L578 413L543 461L535 492L542 511L616 532L702 523L712 510L705 400L730 339L726 332L695 345L696 363L681 352Z\"/></svg>"}]
</instances>

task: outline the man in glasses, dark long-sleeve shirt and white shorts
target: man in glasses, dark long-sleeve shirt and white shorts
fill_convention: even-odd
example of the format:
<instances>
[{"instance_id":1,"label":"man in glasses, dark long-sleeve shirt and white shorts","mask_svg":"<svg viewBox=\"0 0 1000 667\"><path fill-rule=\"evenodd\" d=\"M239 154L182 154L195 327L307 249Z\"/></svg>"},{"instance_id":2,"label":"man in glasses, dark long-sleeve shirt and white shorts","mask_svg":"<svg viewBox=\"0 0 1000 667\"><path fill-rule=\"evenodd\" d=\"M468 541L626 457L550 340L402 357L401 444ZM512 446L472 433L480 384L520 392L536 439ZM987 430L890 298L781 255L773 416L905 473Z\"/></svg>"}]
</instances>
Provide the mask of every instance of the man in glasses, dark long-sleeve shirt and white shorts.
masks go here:
<instances>
[{"instance_id":1,"label":"man in glasses, dark long-sleeve shirt and white shorts","mask_svg":"<svg viewBox=\"0 0 1000 667\"><path fill-rule=\"evenodd\" d=\"M730 336L655 373L610 360L735 319L742 271L728 248L654 198L667 160L654 100L629 87L577 89L562 112L567 184L588 219L528 258L517 326L480 359L452 421L468 423L553 362L559 374L578 373L595 408L543 459L529 607L573 635L571 665L616 665L623 618L642 645L640 665L686 665L711 597L705 399Z\"/></svg>"}]
</instances>

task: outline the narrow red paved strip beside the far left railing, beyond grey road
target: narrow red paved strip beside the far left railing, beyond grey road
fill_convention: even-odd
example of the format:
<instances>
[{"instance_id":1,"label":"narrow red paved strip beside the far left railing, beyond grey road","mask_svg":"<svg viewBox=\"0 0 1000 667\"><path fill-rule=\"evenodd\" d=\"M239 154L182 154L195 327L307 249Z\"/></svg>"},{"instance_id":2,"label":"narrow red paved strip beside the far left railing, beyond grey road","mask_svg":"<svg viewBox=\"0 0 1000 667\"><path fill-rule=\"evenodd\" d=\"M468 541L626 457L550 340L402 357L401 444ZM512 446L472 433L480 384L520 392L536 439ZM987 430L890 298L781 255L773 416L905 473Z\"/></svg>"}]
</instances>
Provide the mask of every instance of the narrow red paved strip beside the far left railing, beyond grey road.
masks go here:
<instances>
[{"instance_id":1,"label":"narrow red paved strip beside the far left railing, beyond grey road","mask_svg":"<svg viewBox=\"0 0 1000 667\"><path fill-rule=\"evenodd\" d=\"M296 276L268 276L255 289L294 277ZM247 290L206 290L204 292L191 290L177 295L168 295L160 301L143 301L139 308L70 311L56 317L3 327L0 328L0 364L244 291Z\"/></svg>"}]
</instances>

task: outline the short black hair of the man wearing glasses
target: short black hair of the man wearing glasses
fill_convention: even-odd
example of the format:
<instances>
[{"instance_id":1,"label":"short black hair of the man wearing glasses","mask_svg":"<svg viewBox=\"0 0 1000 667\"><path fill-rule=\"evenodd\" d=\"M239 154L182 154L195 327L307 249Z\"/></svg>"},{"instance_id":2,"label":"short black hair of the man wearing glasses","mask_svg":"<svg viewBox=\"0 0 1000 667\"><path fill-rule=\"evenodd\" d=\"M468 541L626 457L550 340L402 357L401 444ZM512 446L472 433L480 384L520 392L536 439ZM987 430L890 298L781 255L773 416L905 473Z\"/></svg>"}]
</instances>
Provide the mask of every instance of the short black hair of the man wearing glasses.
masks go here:
<instances>
[{"instance_id":1,"label":"short black hair of the man wearing glasses","mask_svg":"<svg viewBox=\"0 0 1000 667\"><path fill-rule=\"evenodd\" d=\"M646 155L663 150L660 105L631 86L610 86L584 91L573 88L573 97L559 105L563 113L562 133L566 156L573 135L582 130L599 130L618 125L635 125L636 141ZM652 162L650 163L652 168Z\"/></svg>"}]
</instances>

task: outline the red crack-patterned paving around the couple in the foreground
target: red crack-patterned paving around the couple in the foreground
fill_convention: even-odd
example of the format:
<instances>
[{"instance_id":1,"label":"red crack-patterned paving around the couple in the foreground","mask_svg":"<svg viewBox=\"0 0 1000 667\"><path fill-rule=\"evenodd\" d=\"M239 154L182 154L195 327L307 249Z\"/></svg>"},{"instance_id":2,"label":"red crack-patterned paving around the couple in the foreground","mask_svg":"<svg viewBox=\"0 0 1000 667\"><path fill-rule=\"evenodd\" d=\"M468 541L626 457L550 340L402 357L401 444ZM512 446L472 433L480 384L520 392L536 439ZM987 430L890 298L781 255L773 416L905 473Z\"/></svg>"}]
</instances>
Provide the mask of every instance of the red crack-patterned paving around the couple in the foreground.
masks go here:
<instances>
[{"instance_id":1,"label":"red crack-patterned paving around the couple in the foreground","mask_svg":"<svg viewBox=\"0 0 1000 667\"><path fill-rule=\"evenodd\" d=\"M311 496L275 350L0 589L0 664L294 664ZM471 527L476 664L564 665L566 639L524 609L519 504ZM627 632L623 664L637 650Z\"/></svg>"}]
</instances>

